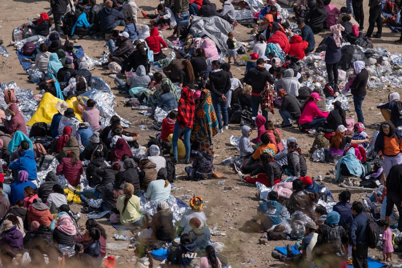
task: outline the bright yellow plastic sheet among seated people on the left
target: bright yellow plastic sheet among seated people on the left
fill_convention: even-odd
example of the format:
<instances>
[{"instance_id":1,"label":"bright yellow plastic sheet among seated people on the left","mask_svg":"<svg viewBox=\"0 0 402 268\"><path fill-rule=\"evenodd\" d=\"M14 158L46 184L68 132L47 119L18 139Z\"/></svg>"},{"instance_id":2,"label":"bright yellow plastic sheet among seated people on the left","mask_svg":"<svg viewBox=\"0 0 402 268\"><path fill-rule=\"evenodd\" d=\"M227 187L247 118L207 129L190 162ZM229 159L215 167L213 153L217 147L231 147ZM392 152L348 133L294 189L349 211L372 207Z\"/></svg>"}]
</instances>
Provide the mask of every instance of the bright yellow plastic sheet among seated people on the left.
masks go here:
<instances>
[{"instance_id":1,"label":"bright yellow plastic sheet among seated people on the left","mask_svg":"<svg viewBox=\"0 0 402 268\"><path fill-rule=\"evenodd\" d=\"M42 97L41 102L36 109L35 114L32 116L31 120L27 122L27 126L32 126L37 122L45 122L46 124L52 123L53 116L58 113L56 110L57 102L62 102L59 98L54 97L50 93L45 93ZM72 108L75 112L75 116L79 121L81 120L81 112L78 110L77 98L73 97L70 100L67 100L66 103L70 108Z\"/></svg>"}]
</instances>

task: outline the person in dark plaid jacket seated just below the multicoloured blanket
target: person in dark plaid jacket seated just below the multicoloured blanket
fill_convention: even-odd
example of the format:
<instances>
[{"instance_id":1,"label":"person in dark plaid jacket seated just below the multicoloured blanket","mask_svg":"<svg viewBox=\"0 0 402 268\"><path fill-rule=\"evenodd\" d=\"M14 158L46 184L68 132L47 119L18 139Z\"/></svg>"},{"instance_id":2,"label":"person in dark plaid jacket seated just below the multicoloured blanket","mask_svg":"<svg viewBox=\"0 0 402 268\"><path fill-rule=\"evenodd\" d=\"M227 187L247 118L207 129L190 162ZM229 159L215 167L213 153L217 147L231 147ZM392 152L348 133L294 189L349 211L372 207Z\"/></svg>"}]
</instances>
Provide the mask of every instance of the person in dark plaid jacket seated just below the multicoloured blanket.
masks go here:
<instances>
[{"instance_id":1,"label":"person in dark plaid jacket seated just below the multicoloured blanket","mask_svg":"<svg viewBox=\"0 0 402 268\"><path fill-rule=\"evenodd\" d=\"M199 181L207 180L212 175L214 169L214 152L210 149L210 142L203 140L200 144L200 150L194 152L194 159L192 160L192 166L186 166L184 168L187 172L189 180Z\"/></svg>"}]
</instances>

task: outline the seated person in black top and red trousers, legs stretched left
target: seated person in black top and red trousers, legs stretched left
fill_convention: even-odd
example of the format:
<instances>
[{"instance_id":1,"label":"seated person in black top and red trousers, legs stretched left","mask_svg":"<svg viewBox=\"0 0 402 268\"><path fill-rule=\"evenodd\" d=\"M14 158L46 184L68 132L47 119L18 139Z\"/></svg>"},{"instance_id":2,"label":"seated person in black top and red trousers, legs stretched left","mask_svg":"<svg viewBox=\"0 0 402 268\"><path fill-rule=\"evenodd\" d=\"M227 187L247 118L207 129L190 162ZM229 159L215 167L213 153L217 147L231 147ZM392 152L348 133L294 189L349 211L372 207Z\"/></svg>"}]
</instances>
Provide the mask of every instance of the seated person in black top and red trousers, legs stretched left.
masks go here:
<instances>
[{"instance_id":1,"label":"seated person in black top and red trousers, legs stretched left","mask_svg":"<svg viewBox=\"0 0 402 268\"><path fill-rule=\"evenodd\" d=\"M273 187L282 179L282 169L280 165L274 161L270 153L263 152L260 157L261 165L250 173L250 176L244 176L241 171L237 174L242 182L256 183L259 182L266 187ZM257 177L253 177L257 175Z\"/></svg>"}]
</instances>

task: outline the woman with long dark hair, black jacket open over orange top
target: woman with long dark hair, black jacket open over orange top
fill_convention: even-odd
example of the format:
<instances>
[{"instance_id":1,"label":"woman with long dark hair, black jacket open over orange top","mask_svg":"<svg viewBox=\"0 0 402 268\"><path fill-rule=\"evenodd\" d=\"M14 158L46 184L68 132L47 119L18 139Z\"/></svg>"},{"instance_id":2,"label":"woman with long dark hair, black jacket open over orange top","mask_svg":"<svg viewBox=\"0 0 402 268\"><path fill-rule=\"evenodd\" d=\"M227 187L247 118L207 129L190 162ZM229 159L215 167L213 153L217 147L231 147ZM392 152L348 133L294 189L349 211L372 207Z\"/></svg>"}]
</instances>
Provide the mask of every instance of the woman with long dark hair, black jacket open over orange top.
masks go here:
<instances>
[{"instance_id":1,"label":"woman with long dark hair, black jacket open over orange top","mask_svg":"<svg viewBox=\"0 0 402 268\"><path fill-rule=\"evenodd\" d=\"M393 165L402 163L402 136L396 132L391 121L382 122L374 145L375 153L382 161L385 175L388 176L389 169Z\"/></svg>"}]
</instances>

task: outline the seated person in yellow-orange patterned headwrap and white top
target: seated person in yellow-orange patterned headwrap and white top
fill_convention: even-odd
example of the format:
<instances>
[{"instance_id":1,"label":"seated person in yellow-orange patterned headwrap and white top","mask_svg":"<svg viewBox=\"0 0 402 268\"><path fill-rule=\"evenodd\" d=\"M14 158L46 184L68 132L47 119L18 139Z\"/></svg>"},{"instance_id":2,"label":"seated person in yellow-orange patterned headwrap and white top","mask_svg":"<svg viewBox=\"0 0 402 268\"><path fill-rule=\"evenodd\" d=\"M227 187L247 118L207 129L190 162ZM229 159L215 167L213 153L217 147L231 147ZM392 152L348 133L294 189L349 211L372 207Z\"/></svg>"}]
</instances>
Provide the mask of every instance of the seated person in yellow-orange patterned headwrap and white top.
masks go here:
<instances>
[{"instance_id":1,"label":"seated person in yellow-orange patterned headwrap and white top","mask_svg":"<svg viewBox=\"0 0 402 268\"><path fill-rule=\"evenodd\" d=\"M191 198L190 200L190 208L191 210L187 210L185 212L180 221L179 221L179 230L178 233L181 234L187 234L189 231L192 230L192 227L190 225L190 220L192 218L197 218L200 222L200 226L206 226L207 224L207 216L203 212L203 199L200 197L194 197Z\"/></svg>"}]
</instances>

